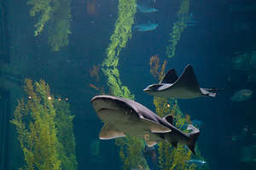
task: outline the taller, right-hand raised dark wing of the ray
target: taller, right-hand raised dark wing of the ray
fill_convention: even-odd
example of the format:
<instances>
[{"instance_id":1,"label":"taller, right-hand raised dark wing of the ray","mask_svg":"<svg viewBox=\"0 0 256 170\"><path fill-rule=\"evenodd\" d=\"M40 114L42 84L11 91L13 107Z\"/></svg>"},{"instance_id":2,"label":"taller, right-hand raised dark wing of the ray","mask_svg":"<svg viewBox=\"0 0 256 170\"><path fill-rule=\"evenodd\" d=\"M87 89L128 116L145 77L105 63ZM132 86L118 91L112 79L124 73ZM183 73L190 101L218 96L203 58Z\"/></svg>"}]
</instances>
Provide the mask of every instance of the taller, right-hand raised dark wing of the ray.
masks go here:
<instances>
[{"instance_id":1,"label":"taller, right-hand raised dark wing of the ray","mask_svg":"<svg viewBox=\"0 0 256 170\"><path fill-rule=\"evenodd\" d=\"M191 65L186 66L183 74L177 79L174 86L178 88L185 88L189 91L194 91L201 94L199 84L196 80L195 73Z\"/></svg>"}]
</instances>

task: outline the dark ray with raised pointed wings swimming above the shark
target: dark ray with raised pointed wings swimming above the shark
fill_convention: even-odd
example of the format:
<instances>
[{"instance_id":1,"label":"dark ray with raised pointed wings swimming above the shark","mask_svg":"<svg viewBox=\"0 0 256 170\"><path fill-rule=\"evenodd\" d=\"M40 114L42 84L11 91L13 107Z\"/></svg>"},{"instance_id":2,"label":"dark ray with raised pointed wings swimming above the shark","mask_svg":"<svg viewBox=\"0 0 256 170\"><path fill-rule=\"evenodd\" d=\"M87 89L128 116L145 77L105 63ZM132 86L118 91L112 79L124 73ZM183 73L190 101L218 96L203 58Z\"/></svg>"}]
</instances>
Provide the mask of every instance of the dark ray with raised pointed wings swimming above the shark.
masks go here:
<instances>
[{"instance_id":1,"label":"dark ray with raised pointed wings swimming above the shark","mask_svg":"<svg viewBox=\"0 0 256 170\"><path fill-rule=\"evenodd\" d=\"M143 89L147 94L175 99L215 97L217 88L200 88L191 65L187 65L180 77L175 69L170 69L162 81Z\"/></svg>"}]
</instances>

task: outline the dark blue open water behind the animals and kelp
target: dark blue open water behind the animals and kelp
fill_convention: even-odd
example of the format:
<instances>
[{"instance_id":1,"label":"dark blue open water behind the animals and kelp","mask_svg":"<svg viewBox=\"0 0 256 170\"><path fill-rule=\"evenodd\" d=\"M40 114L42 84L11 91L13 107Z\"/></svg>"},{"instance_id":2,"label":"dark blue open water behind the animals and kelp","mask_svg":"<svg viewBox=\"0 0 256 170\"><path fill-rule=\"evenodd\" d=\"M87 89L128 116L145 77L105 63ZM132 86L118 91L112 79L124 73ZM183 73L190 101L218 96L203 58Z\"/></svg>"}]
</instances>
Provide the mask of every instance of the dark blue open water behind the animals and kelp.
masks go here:
<instances>
[{"instance_id":1,"label":"dark blue open water behind the animals and kelp","mask_svg":"<svg viewBox=\"0 0 256 170\"><path fill-rule=\"evenodd\" d=\"M178 74L185 65L193 65L203 87L224 88L214 99L178 100L178 104L191 118L205 123L198 144L211 169L241 169L240 150L243 146L255 144L255 140L232 142L231 137L238 135L245 125L255 132L256 99L253 96L250 100L234 104L230 102L230 96L241 88L256 92L256 86L255 82L247 82L245 75L232 70L231 58L235 52L256 49L256 7L247 9L251 4L256 6L256 2L191 0L189 13L195 16L198 23L185 29L177 43L176 55L168 59L166 45L172 23L177 20L180 2L147 1L147 4L160 11L154 14L137 12L135 24L151 20L159 23L159 26L155 31L133 32L127 47L119 56L120 78L135 94L137 102L153 111L153 98L144 94L143 88L155 82L149 71L149 59L154 54L158 54L161 61L166 59L167 68L177 69ZM8 16L9 63L15 63L14 69L15 66L21 67L22 78L42 78L49 83L53 94L68 98L75 114L74 133L79 169L122 169L118 148L112 140L100 141L100 163L90 154L90 145L97 139L102 123L90 105L96 91L88 85L96 83L96 79L90 77L89 70L93 65L101 65L106 57L105 51L117 18L117 1L96 0L96 14L87 14L86 0L73 0L69 44L56 53L49 49L46 32L43 31L40 37L33 36L34 20L29 16L30 7L25 0L8 0L4 5ZM241 10L230 11L233 6ZM229 82L228 77L232 77L232 81ZM99 85L107 88L102 72ZM16 94L17 97L20 95ZM10 132L14 133L12 128ZM8 167L15 169L20 167L22 161L18 143L12 134L9 136Z\"/></svg>"}]
</instances>

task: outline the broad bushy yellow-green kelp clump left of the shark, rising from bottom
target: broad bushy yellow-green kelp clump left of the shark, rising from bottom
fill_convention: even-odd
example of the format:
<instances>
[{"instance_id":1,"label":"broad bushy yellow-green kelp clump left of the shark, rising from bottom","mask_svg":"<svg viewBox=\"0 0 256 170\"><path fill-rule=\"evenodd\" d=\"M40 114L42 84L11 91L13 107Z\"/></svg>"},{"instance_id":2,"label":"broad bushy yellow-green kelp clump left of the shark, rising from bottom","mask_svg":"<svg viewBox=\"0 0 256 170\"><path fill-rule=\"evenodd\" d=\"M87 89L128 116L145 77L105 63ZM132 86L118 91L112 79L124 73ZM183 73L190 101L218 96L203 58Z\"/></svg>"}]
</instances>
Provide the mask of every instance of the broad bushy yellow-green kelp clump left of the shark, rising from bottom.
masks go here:
<instances>
[{"instance_id":1,"label":"broad bushy yellow-green kelp clump left of the shark, rising from bottom","mask_svg":"<svg viewBox=\"0 0 256 170\"><path fill-rule=\"evenodd\" d=\"M20 99L14 119L26 165L20 170L77 169L73 116L66 102L55 100L43 80L25 80L27 100Z\"/></svg>"}]
</instances>

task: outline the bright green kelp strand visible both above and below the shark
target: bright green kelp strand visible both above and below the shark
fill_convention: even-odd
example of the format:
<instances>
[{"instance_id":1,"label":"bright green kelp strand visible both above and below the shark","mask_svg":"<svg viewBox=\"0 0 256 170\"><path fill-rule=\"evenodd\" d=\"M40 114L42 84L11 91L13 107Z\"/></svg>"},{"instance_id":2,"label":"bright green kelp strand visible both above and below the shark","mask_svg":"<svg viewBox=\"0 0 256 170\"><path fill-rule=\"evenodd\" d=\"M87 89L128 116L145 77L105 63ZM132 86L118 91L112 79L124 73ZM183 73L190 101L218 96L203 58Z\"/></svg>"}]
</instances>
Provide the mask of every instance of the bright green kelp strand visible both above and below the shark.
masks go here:
<instances>
[{"instance_id":1,"label":"bright green kelp strand visible both above and below the shark","mask_svg":"<svg viewBox=\"0 0 256 170\"><path fill-rule=\"evenodd\" d=\"M131 38L131 26L134 23L134 14L137 12L136 2L136 0L119 0L118 19L110 37L107 58L102 63L102 72L108 77L109 91L112 95L125 99L134 99L134 95L122 84L117 67L120 51L125 48L127 41ZM115 144L119 146L119 156L124 163L124 169L147 169L147 162L142 154L142 139L126 136L122 139L115 139Z\"/></svg>"}]
</instances>

